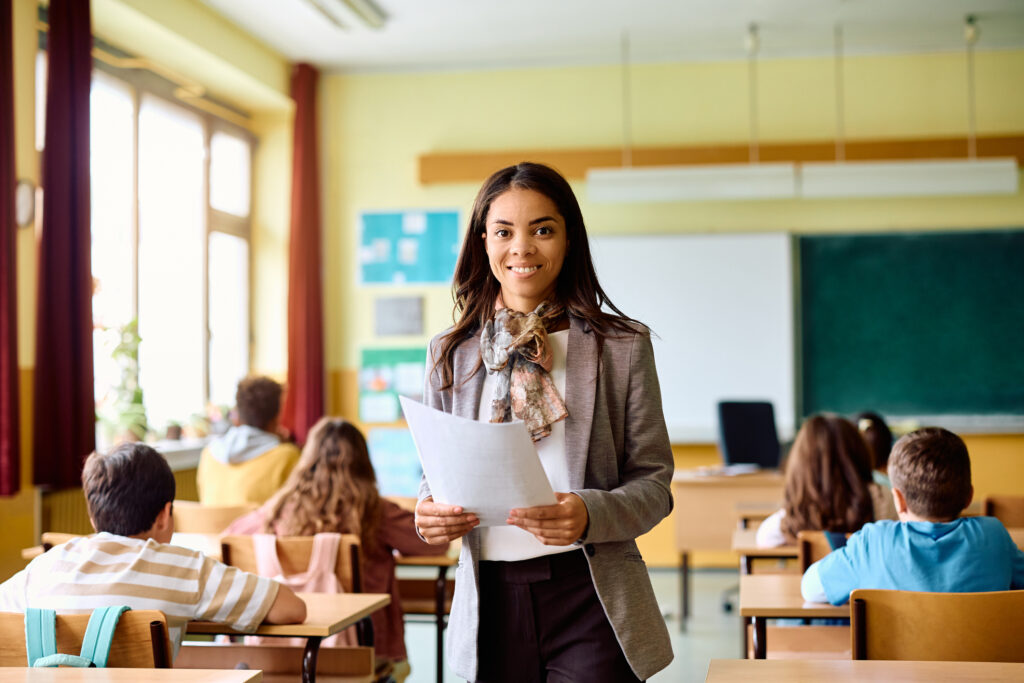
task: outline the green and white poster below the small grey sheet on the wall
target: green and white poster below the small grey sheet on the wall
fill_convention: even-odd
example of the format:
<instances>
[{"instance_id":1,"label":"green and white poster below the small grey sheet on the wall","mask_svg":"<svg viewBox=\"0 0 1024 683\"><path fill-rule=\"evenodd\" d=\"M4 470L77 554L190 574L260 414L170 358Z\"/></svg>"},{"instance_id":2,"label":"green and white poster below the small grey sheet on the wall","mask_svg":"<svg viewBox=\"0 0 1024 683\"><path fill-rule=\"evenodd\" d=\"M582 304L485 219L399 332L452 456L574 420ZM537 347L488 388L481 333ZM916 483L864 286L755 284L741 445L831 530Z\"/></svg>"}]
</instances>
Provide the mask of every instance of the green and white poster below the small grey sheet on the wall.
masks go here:
<instances>
[{"instance_id":1,"label":"green and white poster below the small grey sheet on the wall","mask_svg":"<svg viewBox=\"0 0 1024 683\"><path fill-rule=\"evenodd\" d=\"M424 348L366 348L359 364L359 420L395 422L398 395L423 399Z\"/></svg>"}]
</instances>

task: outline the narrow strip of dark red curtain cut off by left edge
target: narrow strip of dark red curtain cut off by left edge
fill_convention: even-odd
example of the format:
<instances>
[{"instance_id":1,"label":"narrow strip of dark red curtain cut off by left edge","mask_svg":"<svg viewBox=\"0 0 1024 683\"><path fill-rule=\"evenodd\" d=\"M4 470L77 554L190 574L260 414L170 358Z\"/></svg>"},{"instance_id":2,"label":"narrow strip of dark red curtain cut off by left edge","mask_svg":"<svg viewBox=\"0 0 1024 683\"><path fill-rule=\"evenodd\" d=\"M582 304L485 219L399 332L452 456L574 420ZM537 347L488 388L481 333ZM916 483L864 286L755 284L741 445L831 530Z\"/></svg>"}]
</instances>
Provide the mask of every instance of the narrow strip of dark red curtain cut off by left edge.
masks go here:
<instances>
[{"instance_id":1,"label":"narrow strip of dark red curtain cut off by left edge","mask_svg":"<svg viewBox=\"0 0 1024 683\"><path fill-rule=\"evenodd\" d=\"M20 487L17 395L17 258L14 220L14 54L10 0L0 0L0 496Z\"/></svg>"}]
</instances>

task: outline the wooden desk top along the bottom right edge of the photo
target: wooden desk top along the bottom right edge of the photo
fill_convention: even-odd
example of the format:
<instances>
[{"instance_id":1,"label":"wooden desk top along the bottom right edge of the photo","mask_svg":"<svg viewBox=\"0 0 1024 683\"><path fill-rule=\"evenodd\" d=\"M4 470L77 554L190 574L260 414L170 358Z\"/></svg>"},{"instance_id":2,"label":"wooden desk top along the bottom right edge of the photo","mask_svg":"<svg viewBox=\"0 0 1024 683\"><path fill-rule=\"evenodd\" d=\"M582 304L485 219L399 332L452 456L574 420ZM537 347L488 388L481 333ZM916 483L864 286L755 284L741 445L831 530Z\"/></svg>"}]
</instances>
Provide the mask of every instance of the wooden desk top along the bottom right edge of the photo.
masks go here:
<instances>
[{"instance_id":1,"label":"wooden desk top along the bottom right edge of the photo","mask_svg":"<svg viewBox=\"0 0 1024 683\"><path fill-rule=\"evenodd\" d=\"M712 659L707 683L746 681L893 681L974 683L1024 678L1024 664L995 661L857 661L855 659Z\"/></svg>"}]
</instances>

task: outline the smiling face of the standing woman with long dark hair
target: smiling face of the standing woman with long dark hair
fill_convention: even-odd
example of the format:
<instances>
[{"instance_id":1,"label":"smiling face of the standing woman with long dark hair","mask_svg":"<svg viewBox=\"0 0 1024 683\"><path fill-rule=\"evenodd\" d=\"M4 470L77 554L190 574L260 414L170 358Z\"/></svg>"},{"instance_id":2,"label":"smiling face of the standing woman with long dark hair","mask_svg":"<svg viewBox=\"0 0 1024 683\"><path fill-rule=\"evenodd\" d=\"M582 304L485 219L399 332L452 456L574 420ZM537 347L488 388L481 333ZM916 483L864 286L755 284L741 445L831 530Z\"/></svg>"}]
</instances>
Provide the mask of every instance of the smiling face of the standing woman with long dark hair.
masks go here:
<instances>
[{"instance_id":1,"label":"smiling face of the standing woman with long dark hair","mask_svg":"<svg viewBox=\"0 0 1024 683\"><path fill-rule=\"evenodd\" d=\"M555 203L532 189L510 189L490 203L483 245L513 310L529 312L555 293L568 240Z\"/></svg>"}]
</instances>

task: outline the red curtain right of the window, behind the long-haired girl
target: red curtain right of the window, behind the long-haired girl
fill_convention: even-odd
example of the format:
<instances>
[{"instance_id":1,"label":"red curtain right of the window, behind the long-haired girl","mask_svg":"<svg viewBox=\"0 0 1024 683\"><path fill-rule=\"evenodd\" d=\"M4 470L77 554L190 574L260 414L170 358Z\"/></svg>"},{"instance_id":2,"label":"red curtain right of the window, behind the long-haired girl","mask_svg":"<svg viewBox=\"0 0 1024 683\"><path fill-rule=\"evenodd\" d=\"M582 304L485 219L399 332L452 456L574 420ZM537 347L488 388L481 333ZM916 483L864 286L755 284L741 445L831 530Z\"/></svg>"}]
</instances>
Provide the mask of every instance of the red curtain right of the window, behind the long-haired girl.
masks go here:
<instances>
[{"instance_id":1,"label":"red curtain right of the window, behind the long-haired girl","mask_svg":"<svg viewBox=\"0 0 1024 683\"><path fill-rule=\"evenodd\" d=\"M316 79L316 70L309 65L298 65L292 73L295 131L288 268L288 387L282 422L300 443L324 415Z\"/></svg>"}]
</instances>

